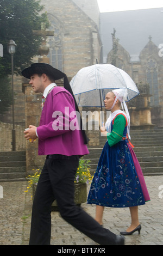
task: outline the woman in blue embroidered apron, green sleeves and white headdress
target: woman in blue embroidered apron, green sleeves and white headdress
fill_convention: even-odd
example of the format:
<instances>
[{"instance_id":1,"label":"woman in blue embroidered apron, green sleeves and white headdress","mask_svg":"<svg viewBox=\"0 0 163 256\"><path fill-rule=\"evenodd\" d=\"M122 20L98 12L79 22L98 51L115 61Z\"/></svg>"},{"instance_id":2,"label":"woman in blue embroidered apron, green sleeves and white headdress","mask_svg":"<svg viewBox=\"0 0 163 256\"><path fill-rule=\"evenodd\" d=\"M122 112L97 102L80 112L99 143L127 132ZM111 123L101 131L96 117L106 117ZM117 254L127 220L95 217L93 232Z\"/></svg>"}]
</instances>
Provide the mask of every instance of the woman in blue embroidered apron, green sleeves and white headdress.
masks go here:
<instances>
[{"instance_id":1,"label":"woman in blue embroidered apron, green sleeves and white headdress","mask_svg":"<svg viewBox=\"0 0 163 256\"><path fill-rule=\"evenodd\" d=\"M101 132L107 136L107 141L92 180L87 203L96 204L96 221L101 225L105 206L129 207L130 227L120 233L131 235L135 231L140 233L138 206L150 198L133 145L129 142L130 116L126 97L126 89L116 89L106 94L104 104L111 114L105 126L101 127ZM121 106L123 111L120 110Z\"/></svg>"}]
</instances>

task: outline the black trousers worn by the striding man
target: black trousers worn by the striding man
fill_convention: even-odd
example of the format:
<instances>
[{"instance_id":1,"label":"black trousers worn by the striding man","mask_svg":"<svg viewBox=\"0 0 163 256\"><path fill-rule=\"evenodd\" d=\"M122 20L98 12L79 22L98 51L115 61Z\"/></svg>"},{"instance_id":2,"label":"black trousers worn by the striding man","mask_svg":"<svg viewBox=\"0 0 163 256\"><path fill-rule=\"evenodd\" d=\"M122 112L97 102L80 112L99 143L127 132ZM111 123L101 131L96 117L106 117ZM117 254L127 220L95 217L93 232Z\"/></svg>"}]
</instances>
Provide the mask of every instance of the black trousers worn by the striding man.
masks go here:
<instances>
[{"instance_id":1,"label":"black trousers worn by the striding man","mask_svg":"<svg viewBox=\"0 0 163 256\"><path fill-rule=\"evenodd\" d=\"M101 227L74 204L74 175L78 164L75 159L46 159L33 202L29 245L50 245L51 205L54 199L57 199L61 217L73 227L100 245L115 244L114 233Z\"/></svg>"}]
</instances>

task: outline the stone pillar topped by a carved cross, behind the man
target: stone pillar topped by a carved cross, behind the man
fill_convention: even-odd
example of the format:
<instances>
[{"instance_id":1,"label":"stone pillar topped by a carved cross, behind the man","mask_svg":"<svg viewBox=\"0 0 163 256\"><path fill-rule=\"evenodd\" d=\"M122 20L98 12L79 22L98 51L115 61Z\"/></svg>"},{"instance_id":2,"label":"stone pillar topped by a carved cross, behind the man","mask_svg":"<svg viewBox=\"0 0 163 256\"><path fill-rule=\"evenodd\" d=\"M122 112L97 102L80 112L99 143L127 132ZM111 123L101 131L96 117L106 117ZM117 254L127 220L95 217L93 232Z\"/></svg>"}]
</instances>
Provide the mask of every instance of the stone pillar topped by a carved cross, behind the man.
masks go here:
<instances>
[{"instance_id":1,"label":"stone pillar topped by a carved cross, behind the man","mask_svg":"<svg viewBox=\"0 0 163 256\"><path fill-rule=\"evenodd\" d=\"M42 36L42 44L39 47L39 63L49 64L47 54L49 48L46 46L46 36L53 36L53 31L46 31L45 24L41 24L41 31L33 31L34 35ZM37 62L37 61L36 61ZM23 92L25 94L25 114L26 128L29 125L39 126L41 117L42 94L34 93L29 84L29 80L22 78ZM35 169L42 169L46 156L38 156L38 139L34 143L26 141L26 170L27 175L33 173Z\"/></svg>"}]
</instances>

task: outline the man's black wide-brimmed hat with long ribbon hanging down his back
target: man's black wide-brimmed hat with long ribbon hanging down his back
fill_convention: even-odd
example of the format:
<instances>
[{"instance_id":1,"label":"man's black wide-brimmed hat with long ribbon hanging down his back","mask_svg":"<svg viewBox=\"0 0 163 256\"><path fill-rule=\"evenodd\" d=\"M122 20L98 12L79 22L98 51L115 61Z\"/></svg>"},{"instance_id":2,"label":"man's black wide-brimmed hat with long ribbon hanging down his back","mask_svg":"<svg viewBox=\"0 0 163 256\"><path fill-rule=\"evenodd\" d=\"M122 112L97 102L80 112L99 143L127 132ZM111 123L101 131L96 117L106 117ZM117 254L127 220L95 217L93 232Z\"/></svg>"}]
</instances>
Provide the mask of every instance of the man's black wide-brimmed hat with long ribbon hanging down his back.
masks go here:
<instances>
[{"instance_id":1,"label":"man's black wide-brimmed hat with long ribbon hanging down his back","mask_svg":"<svg viewBox=\"0 0 163 256\"><path fill-rule=\"evenodd\" d=\"M76 102L76 99L73 95L70 83L68 81L68 78L66 74L61 72L58 69L53 68L53 66L47 64L47 63L33 63L29 68L24 69L22 71L22 76L30 79L30 77L34 74L46 74L47 76L53 78L54 80L59 80L61 78L64 78L64 88L68 90L69 93L72 94L76 106L76 111L79 112L79 108ZM82 118L80 117L80 127L82 129L83 137L84 137L84 143L87 144L89 141L85 135L85 131L83 130L83 125L82 125Z\"/></svg>"}]
</instances>

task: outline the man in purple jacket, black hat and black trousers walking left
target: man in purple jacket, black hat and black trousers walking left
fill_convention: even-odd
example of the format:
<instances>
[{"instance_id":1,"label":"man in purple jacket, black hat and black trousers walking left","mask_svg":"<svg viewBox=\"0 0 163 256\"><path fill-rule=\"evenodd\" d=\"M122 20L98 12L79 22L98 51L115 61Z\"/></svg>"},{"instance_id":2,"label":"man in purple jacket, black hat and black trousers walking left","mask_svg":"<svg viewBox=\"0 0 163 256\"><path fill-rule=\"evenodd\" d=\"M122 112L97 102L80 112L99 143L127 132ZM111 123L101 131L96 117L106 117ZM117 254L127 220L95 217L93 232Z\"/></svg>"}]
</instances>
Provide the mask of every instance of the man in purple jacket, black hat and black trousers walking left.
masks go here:
<instances>
[{"instance_id":1,"label":"man in purple jacket, black hat and black trousers walking left","mask_svg":"<svg viewBox=\"0 0 163 256\"><path fill-rule=\"evenodd\" d=\"M103 228L74 204L79 157L89 151L67 76L45 63L32 64L22 75L30 79L35 93L43 94L40 125L29 125L24 137L32 142L38 138L39 155L47 155L34 197L29 245L50 245L51 205L55 199L61 217L92 240L100 245L123 245L122 236ZM55 80L63 77L64 88L57 87Z\"/></svg>"}]
</instances>

